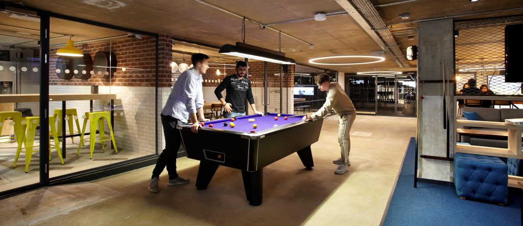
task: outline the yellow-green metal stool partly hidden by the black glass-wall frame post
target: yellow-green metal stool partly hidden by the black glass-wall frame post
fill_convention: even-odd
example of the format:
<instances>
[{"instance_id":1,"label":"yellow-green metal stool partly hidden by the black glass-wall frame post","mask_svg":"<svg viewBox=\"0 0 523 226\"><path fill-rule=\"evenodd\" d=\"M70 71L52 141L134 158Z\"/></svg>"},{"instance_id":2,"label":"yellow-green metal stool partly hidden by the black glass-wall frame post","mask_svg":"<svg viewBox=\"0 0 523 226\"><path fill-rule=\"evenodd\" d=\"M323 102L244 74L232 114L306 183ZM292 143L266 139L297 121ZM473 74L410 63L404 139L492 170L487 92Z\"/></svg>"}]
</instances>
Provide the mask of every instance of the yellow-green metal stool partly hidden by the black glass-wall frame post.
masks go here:
<instances>
[{"instance_id":1,"label":"yellow-green metal stool partly hidden by the black glass-wall frame post","mask_svg":"<svg viewBox=\"0 0 523 226\"><path fill-rule=\"evenodd\" d=\"M58 152L58 157L60 158L60 161L62 165L64 165L64 159L62 158L62 152L60 150L60 142L58 141L58 133L56 132L55 127L55 121L56 119L51 116L49 117L49 127L50 127L50 133L49 133L49 144L51 144L51 135L53 136L54 140L54 146L56 148L56 151ZM36 129L38 125L40 124L40 116L28 116L24 117L24 121L21 122L22 128L26 131L26 135L24 136L24 149L26 149L26 173L29 171L29 164L31 163L31 157L33 153L33 148L38 147L39 145L35 146L35 136L36 136ZM43 127L40 127L42 129ZM16 168L16 162L18 161L18 157L20 156L20 151L17 150L15 162L13 163L13 168ZM51 145L49 145L49 160L51 160Z\"/></svg>"}]
</instances>

